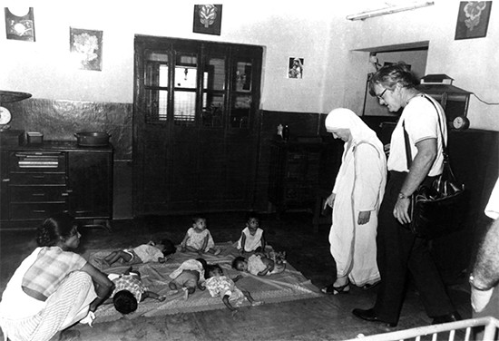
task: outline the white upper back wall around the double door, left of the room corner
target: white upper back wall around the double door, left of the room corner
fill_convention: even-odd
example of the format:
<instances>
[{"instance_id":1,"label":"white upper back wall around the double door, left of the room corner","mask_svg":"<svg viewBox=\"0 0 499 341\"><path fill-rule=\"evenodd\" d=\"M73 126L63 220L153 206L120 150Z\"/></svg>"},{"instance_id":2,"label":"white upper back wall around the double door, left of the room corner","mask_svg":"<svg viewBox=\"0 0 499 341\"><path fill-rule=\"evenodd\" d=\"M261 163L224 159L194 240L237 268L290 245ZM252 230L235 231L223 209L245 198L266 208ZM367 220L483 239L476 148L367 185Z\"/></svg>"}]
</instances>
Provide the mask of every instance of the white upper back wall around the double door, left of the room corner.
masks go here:
<instances>
[{"instance_id":1,"label":"white upper back wall around the double door, left of the room corner","mask_svg":"<svg viewBox=\"0 0 499 341\"><path fill-rule=\"evenodd\" d=\"M328 8L318 0L306 5L298 1L223 0L219 36L192 33L193 9L199 3L38 1L34 5L34 43L6 40L5 25L0 24L0 89L32 93L34 98L132 102L134 34L146 34L264 46L261 107L319 111L322 78L327 76L323 69L327 65L328 29L335 17L332 5ZM70 26L103 31L101 72L77 70L69 63ZM303 79L287 78L289 57L304 58Z\"/></svg>"}]
</instances>

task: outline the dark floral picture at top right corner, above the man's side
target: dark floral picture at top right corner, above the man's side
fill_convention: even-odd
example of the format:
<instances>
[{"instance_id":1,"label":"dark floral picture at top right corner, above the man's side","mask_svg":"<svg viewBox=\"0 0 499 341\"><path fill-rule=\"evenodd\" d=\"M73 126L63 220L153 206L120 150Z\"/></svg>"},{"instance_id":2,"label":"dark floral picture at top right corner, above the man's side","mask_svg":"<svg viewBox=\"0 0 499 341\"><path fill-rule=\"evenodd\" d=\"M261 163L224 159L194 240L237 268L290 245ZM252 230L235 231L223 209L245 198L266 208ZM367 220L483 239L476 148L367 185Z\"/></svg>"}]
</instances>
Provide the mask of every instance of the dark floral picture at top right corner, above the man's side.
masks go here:
<instances>
[{"instance_id":1,"label":"dark floral picture at top right corner, above the man's side","mask_svg":"<svg viewBox=\"0 0 499 341\"><path fill-rule=\"evenodd\" d=\"M492 1L462 1L455 26L455 40L487 35Z\"/></svg>"}]
</instances>

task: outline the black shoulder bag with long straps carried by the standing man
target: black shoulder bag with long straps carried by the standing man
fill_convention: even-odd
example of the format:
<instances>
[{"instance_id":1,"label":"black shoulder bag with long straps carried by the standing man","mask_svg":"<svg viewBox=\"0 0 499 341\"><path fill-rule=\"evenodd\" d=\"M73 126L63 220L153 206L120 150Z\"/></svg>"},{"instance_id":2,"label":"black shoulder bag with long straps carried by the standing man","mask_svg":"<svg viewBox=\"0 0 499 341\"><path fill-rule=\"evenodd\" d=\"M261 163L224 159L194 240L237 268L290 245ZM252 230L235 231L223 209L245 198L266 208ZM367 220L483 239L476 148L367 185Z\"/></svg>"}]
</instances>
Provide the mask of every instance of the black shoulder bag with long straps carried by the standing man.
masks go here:
<instances>
[{"instance_id":1,"label":"black shoulder bag with long straps carried by the standing man","mask_svg":"<svg viewBox=\"0 0 499 341\"><path fill-rule=\"evenodd\" d=\"M431 102L429 99L428 101ZM435 103L432 102L432 104L435 106ZM428 181L423 181L423 184L413 193L409 209L411 222L406 224L413 234L424 239L435 239L457 231L461 228L465 212L465 185L455 179L454 172L451 170L440 122L441 115L438 110L436 112L442 136L444 170L429 184ZM407 169L410 169L412 157L405 122L402 122L402 127L406 142Z\"/></svg>"}]
</instances>

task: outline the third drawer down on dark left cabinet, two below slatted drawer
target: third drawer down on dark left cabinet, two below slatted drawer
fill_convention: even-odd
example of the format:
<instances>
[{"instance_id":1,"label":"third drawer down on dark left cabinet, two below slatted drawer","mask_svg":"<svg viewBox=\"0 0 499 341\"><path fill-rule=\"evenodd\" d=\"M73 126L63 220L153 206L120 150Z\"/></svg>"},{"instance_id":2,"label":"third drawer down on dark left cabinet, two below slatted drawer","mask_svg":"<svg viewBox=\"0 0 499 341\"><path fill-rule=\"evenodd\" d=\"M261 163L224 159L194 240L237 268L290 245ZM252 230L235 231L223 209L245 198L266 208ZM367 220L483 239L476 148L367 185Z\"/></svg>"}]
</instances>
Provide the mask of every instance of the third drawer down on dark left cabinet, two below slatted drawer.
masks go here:
<instances>
[{"instance_id":1,"label":"third drawer down on dark left cabinet, two below slatted drawer","mask_svg":"<svg viewBox=\"0 0 499 341\"><path fill-rule=\"evenodd\" d=\"M11 202L64 201L68 194L65 186L11 186Z\"/></svg>"}]
</instances>

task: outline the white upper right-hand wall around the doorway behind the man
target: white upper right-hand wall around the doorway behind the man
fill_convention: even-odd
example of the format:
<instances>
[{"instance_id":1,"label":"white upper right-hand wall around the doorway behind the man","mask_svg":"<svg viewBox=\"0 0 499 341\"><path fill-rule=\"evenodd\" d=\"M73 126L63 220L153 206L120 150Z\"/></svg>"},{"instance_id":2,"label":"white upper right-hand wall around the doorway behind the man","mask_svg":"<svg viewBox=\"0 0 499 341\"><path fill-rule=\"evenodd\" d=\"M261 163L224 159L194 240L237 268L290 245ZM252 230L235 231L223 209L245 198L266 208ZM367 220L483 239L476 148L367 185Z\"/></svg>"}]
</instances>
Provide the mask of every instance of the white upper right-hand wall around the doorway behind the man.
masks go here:
<instances>
[{"instance_id":1,"label":"white upper right-hand wall around the doorway behind the man","mask_svg":"<svg viewBox=\"0 0 499 341\"><path fill-rule=\"evenodd\" d=\"M458 1L435 0L435 5L414 11L350 22L347 50L429 41L426 74L445 73L454 78L455 86L475 93L485 102L498 103L499 4L492 6L484 38L454 39L458 9ZM367 54L351 54L362 56L345 65L347 73L353 74L353 82L345 83L345 106L361 112L361 88L370 70ZM364 70L359 79L358 70ZM499 131L499 105L486 105L472 95L468 118L472 128Z\"/></svg>"}]
</instances>

